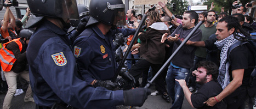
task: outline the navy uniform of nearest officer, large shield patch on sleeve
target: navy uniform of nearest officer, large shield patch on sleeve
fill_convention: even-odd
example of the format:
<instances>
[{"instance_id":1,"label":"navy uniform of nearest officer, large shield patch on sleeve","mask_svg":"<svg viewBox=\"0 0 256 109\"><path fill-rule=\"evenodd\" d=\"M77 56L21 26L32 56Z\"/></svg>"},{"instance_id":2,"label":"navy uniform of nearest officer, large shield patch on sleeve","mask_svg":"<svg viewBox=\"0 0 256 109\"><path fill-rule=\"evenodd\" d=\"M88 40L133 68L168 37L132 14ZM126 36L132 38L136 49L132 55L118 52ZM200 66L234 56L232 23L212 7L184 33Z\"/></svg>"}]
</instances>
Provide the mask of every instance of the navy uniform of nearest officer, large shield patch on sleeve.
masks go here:
<instances>
[{"instance_id":1,"label":"navy uniform of nearest officer, large shield patch on sleeve","mask_svg":"<svg viewBox=\"0 0 256 109\"><path fill-rule=\"evenodd\" d=\"M58 102L76 108L109 108L124 104L122 90L93 88L77 77L76 60L65 31L45 19L38 25L27 48L37 106L50 108Z\"/></svg>"}]
</instances>

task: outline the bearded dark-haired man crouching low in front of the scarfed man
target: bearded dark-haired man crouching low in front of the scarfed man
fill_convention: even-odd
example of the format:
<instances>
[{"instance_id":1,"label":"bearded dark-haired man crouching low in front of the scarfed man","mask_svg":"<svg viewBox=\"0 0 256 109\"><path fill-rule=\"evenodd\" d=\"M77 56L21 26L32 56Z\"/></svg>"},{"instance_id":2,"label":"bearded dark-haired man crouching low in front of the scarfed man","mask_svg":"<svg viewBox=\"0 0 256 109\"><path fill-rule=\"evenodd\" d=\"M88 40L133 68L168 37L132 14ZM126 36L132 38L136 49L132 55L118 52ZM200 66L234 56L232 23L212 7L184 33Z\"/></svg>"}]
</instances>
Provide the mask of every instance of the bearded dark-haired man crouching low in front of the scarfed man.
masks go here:
<instances>
[{"instance_id":1,"label":"bearded dark-haired man crouching low in front of the scarfed man","mask_svg":"<svg viewBox=\"0 0 256 109\"><path fill-rule=\"evenodd\" d=\"M192 94L189 88L186 86L185 80L177 80L180 86L183 88L185 98L189 104L194 108L211 108L206 104L203 104L208 98L218 95L222 88L217 82L219 74L218 66L211 61L203 61L197 64L197 70L193 71L196 76L196 82L202 86L198 89L197 93ZM225 108L224 101L218 102L213 108Z\"/></svg>"}]
</instances>

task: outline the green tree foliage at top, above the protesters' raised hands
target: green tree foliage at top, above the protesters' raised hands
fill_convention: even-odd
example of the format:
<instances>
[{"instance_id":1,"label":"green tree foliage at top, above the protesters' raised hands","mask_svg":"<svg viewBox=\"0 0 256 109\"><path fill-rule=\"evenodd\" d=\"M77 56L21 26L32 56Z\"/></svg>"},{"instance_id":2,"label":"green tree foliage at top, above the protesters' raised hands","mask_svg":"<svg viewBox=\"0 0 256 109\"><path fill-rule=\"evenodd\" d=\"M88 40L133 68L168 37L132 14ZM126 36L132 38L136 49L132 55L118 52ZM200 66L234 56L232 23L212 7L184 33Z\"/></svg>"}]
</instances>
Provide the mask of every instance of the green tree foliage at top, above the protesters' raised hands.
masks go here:
<instances>
[{"instance_id":1,"label":"green tree foliage at top, above the protesters' raised hands","mask_svg":"<svg viewBox=\"0 0 256 109\"><path fill-rule=\"evenodd\" d=\"M176 4L176 11L173 11L172 4ZM180 0L168 0L166 4L167 8L175 15L183 15L183 13L187 10L189 3L187 1L183 2Z\"/></svg>"}]
</instances>

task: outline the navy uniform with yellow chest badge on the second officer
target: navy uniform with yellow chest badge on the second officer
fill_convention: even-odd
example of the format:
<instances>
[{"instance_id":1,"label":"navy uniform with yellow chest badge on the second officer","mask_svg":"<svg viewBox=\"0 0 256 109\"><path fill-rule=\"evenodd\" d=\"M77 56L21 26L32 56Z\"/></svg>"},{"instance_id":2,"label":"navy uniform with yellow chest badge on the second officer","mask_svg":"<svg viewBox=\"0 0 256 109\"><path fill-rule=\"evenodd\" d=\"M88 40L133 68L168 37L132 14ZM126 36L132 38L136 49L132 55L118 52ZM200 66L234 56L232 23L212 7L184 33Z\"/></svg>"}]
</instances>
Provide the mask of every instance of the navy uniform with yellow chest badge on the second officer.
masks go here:
<instances>
[{"instance_id":1,"label":"navy uniform with yellow chest badge on the second officer","mask_svg":"<svg viewBox=\"0 0 256 109\"><path fill-rule=\"evenodd\" d=\"M73 53L83 80L88 83L94 80L111 80L117 70L113 34L123 33L128 36L134 32L135 29L115 29L104 35L96 25L84 30L73 45Z\"/></svg>"}]
</instances>

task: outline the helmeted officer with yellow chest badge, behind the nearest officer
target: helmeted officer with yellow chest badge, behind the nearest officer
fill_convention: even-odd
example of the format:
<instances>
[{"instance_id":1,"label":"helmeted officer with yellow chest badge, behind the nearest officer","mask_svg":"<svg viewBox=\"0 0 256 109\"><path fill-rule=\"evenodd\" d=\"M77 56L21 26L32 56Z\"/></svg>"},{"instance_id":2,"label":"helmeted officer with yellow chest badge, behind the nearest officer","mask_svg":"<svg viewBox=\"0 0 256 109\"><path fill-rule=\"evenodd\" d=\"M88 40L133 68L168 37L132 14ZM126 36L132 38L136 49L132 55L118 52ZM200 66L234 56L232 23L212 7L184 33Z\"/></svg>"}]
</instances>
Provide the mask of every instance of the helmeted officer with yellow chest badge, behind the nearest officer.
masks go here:
<instances>
[{"instance_id":1,"label":"helmeted officer with yellow chest badge, behind the nearest officer","mask_svg":"<svg viewBox=\"0 0 256 109\"><path fill-rule=\"evenodd\" d=\"M115 46L113 45L113 29L125 23L124 4L121 0L99 3L101 0L90 2L90 19L85 29L75 40L73 49L79 71L83 80L94 87L105 87L113 90L117 87L110 80L117 70L115 59ZM114 29L116 31L116 29ZM120 29L118 29L120 30ZM123 29L125 30L125 29ZM123 32L124 33L124 32ZM127 32L126 32L127 33ZM120 74L134 86L135 79L127 72Z\"/></svg>"}]
</instances>

